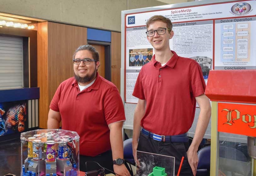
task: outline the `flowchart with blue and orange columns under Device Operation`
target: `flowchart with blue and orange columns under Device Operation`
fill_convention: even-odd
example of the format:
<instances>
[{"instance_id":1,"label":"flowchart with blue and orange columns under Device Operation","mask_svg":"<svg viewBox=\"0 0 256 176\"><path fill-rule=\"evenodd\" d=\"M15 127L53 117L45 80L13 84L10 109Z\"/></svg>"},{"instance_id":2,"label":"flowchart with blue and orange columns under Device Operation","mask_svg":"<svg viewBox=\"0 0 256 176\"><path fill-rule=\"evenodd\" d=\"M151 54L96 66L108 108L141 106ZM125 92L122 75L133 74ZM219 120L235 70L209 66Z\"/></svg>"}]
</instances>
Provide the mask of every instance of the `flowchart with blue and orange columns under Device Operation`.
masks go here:
<instances>
[{"instance_id":1,"label":"flowchart with blue and orange columns under Device Operation","mask_svg":"<svg viewBox=\"0 0 256 176\"><path fill-rule=\"evenodd\" d=\"M221 61L249 61L250 33L250 22L221 25Z\"/></svg>"}]
</instances>

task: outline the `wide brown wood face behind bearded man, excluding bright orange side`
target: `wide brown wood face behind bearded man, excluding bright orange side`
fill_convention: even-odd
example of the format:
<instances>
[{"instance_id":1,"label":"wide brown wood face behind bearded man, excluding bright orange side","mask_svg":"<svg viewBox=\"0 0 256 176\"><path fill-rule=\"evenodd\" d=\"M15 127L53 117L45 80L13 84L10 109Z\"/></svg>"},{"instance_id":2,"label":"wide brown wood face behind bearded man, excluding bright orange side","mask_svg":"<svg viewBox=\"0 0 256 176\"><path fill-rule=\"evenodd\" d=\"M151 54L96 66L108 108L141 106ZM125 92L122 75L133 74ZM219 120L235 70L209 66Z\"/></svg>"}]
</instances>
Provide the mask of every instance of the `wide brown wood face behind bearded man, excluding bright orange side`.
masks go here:
<instances>
[{"instance_id":1,"label":"wide brown wood face behind bearded man, excluding bright orange side","mask_svg":"<svg viewBox=\"0 0 256 176\"><path fill-rule=\"evenodd\" d=\"M64 80L74 76L73 54L87 44L87 28L48 22L49 103Z\"/></svg>"}]
</instances>

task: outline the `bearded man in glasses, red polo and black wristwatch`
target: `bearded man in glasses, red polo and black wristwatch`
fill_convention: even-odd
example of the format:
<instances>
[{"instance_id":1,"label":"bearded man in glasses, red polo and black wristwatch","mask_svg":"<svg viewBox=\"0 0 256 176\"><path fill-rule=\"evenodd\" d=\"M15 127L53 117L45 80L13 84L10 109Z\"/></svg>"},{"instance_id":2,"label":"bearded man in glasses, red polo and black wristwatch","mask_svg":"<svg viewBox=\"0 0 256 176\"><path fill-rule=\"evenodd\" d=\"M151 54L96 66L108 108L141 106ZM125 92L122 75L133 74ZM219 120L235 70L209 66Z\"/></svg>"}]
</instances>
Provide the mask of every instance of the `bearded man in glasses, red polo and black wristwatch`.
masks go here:
<instances>
[{"instance_id":1,"label":"bearded man in glasses, red polo and black wristwatch","mask_svg":"<svg viewBox=\"0 0 256 176\"><path fill-rule=\"evenodd\" d=\"M99 170L98 162L128 176L123 164L125 114L118 89L98 74L99 54L94 47L78 47L73 62L74 77L59 85L50 104L47 127L58 129L62 121L62 129L79 134L81 171Z\"/></svg>"}]
</instances>

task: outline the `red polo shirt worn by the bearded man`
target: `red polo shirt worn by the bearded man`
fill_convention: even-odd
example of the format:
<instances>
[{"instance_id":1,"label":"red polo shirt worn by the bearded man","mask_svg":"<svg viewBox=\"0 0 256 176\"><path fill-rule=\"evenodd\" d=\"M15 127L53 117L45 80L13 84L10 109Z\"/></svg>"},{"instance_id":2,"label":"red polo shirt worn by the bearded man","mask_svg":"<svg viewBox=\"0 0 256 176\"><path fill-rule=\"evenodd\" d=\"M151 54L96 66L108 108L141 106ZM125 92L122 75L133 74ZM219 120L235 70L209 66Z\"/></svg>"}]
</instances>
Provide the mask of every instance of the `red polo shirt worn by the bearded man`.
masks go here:
<instances>
[{"instance_id":1,"label":"red polo shirt worn by the bearded man","mask_svg":"<svg viewBox=\"0 0 256 176\"><path fill-rule=\"evenodd\" d=\"M116 86L98 75L85 90L74 77L62 82L50 108L60 112L62 129L80 136L80 155L96 156L111 149L108 124L125 120L124 107Z\"/></svg>"}]
</instances>

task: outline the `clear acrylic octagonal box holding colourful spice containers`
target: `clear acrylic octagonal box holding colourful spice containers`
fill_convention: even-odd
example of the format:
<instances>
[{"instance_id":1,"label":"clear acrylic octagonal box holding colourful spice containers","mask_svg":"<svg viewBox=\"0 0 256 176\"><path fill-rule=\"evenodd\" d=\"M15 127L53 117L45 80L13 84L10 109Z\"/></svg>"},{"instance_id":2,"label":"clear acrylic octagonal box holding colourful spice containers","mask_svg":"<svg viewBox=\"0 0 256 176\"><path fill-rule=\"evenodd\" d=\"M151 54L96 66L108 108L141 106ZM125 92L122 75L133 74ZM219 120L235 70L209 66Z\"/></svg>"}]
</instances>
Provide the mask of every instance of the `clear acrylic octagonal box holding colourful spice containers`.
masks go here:
<instances>
[{"instance_id":1,"label":"clear acrylic octagonal box holding colourful spice containers","mask_svg":"<svg viewBox=\"0 0 256 176\"><path fill-rule=\"evenodd\" d=\"M63 129L21 133L21 176L79 176L79 139Z\"/></svg>"}]
</instances>

